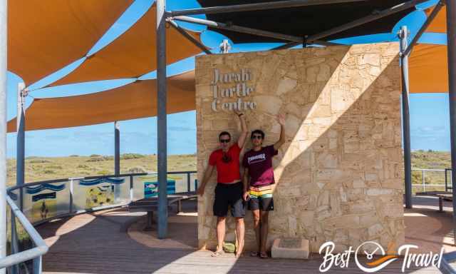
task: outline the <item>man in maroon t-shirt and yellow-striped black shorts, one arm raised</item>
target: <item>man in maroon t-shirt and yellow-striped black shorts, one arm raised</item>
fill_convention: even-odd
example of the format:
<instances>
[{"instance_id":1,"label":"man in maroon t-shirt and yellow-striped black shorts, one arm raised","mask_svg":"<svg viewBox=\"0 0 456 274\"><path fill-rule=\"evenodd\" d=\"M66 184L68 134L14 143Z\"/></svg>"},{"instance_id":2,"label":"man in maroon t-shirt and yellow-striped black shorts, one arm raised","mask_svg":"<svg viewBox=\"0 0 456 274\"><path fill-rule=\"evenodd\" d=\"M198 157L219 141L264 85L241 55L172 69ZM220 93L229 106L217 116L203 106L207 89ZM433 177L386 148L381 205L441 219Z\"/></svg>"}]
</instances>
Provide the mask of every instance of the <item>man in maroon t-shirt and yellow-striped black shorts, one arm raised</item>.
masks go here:
<instances>
[{"instance_id":1,"label":"man in maroon t-shirt and yellow-striped black shorts, one arm raised","mask_svg":"<svg viewBox=\"0 0 456 274\"><path fill-rule=\"evenodd\" d=\"M285 117L279 115L281 126L280 139L274 145L263 147L264 132L257 129L252 131L253 148L244 154L244 200L249 200L249 210L254 216L254 229L257 238L258 250L251 255L267 258L266 240L268 238L269 211L274 210L272 199L274 181L274 168L272 157L277 155L279 147L285 143Z\"/></svg>"}]
</instances>

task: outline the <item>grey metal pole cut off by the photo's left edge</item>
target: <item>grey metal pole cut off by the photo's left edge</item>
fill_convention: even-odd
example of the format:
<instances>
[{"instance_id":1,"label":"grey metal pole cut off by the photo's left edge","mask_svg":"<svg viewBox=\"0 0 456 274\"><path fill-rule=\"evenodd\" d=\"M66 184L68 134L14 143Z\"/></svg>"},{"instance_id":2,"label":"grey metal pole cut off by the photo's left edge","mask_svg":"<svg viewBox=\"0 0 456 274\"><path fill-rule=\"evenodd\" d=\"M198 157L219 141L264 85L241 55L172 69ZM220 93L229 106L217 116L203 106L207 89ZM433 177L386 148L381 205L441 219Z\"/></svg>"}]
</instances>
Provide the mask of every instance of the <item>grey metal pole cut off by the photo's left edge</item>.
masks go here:
<instances>
[{"instance_id":1,"label":"grey metal pole cut off by the photo's left edge","mask_svg":"<svg viewBox=\"0 0 456 274\"><path fill-rule=\"evenodd\" d=\"M7 0L0 0L0 258L6 257L6 60ZM0 269L4 274L6 269Z\"/></svg>"}]
</instances>

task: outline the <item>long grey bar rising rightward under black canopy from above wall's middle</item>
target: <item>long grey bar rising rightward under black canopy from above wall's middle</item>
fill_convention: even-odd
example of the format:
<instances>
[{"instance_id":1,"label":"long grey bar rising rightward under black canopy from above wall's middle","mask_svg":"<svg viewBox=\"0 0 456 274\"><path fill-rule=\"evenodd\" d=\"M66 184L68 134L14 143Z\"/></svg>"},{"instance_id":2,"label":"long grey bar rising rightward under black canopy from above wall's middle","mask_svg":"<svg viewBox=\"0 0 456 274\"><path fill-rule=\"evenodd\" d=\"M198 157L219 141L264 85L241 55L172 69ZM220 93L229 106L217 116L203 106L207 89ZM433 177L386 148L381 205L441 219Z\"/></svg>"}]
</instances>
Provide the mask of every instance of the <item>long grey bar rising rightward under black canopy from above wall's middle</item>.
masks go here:
<instances>
[{"instance_id":1,"label":"long grey bar rising rightward under black canopy from above wall's middle","mask_svg":"<svg viewBox=\"0 0 456 274\"><path fill-rule=\"evenodd\" d=\"M337 26L336 28L328 29L327 31L323 31L321 34L311 35L311 36L309 36L307 38L307 43L310 44L310 43L312 43L312 42L314 42L316 40L323 39L323 38L331 36L333 34L337 34L339 32L346 31L348 29L353 29L356 26L361 26L362 24L366 24L366 23L369 23L371 21L375 21L375 20L378 20L380 18L383 18L385 16L389 16L391 14L398 13L400 11L403 11L405 9L409 9L409 8L411 8L413 6L416 6L416 5L420 4L420 3L423 3L425 1L427 1L427 0L410 0L410 1L406 1L403 4L398 4L396 6L390 7L389 9L384 9L383 11L378 11L375 14L371 14L371 15L365 16L365 17L363 17L361 19L358 19L358 20L355 20L355 21L351 21L350 23L343 24L341 26Z\"/></svg>"}]
</instances>

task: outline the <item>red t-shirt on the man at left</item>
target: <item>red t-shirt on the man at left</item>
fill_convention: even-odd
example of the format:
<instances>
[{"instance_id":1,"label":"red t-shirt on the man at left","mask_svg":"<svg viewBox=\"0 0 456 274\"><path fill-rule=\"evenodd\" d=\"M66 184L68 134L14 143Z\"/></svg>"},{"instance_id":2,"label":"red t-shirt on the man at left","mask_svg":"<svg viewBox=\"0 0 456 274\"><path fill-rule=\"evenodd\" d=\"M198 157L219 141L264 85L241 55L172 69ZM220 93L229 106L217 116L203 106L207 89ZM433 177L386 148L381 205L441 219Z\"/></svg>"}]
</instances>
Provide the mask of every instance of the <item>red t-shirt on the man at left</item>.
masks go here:
<instances>
[{"instance_id":1,"label":"red t-shirt on the man at left","mask_svg":"<svg viewBox=\"0 0 456 274\"><path fill-rule=\"evenodd\" d=\"M233 181L241 181L241 173L239 172L239 155L241 148L234 143L227 151L227 157L231 161L225 163L223 158L222 148L213 151L209 156L209 165L217 167L217 182L232 183Z\"/></svg>"}]
</instances>

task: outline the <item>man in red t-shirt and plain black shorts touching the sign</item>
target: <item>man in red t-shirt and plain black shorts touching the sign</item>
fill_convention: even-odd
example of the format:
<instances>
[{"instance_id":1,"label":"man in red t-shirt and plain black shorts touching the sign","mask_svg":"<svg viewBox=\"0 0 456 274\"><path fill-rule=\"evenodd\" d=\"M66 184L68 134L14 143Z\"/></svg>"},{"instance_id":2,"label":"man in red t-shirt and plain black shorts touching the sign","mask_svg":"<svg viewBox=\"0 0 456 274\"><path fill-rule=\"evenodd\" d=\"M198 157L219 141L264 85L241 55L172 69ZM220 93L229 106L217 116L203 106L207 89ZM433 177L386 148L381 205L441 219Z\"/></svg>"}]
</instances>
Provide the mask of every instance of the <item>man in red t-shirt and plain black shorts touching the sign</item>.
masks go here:
<instances>
[{"instance_id":1,"label":"man in red t-shirt and plain black shorts touching the sign","mask_svg":"<svg viewBox=\"0 0 456 274\"><path fill-rule=\"evenodd\" d=\"M242 254L244 249L244 200L242 194L244 191L241 173L239 172L239 156L247 139L247 125L245 123L244 113L236 111L241 120L242 133L239 140L232 143L231 135L227 131L219 134L220 148L211 153L209 164L201 181L197 193L202 196L207 181L217 168L217 186L215 187L214 215L217 216L217 250L212 253L217 257L223 253L223 242L225 238L225 220L227 220L228 208L231 206L231 214L236 218L236 236L237 250L236 257Z\"/></svg>"}]
</instances>

